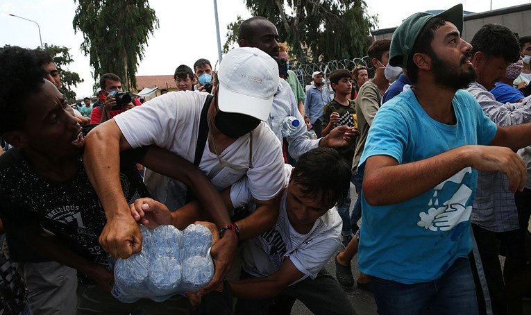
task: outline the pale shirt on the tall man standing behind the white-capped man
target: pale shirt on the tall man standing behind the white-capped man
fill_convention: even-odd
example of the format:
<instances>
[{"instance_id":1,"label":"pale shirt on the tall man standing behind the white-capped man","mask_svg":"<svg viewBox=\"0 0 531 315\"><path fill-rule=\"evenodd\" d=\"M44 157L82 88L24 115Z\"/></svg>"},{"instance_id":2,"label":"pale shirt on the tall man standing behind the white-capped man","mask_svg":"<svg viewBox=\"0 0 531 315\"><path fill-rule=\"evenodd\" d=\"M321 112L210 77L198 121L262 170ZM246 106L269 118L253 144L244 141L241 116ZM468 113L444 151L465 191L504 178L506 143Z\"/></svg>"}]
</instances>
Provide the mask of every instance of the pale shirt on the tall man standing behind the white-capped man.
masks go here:
<instances>
[{"instance_id":1,"label":"pale shirt on the tall man standing behind the white-capped man","mask_svg":"<svg viewBox=\"0 0 531 315\"><path fill-rule=\"evenodd\" d=\"M297 101L292 87L286 80L281 78L278 81L277 92L273 98L273 107L267 119L269 128L273 130L273 133L275 133L280 141L283 138L282 121L288 116L295 117L300 123L296 133L286 137L287 143L289 144L289 155L292 155L295 160L298 160L298 157L303 155L303 153L310 151L312 148L317 148L319 146L319 140L308 137L306 124L301 112L298 111Z\"/></svg>"}]
</instances>

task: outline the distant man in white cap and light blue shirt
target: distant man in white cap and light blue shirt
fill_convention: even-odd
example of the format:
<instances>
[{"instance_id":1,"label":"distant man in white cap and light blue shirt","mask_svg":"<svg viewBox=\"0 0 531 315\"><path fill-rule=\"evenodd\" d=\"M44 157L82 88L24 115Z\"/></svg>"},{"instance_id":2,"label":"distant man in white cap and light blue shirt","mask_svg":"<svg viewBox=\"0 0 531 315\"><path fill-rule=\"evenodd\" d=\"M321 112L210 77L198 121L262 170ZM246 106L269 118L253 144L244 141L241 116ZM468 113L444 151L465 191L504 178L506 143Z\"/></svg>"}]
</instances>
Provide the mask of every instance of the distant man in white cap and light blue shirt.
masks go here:
<instances>
[{"instance_id":1,"label":"distant man in white cap and light blue shirt","mask_svg":"<svg viewBox=\"0 0 531 315\"><path fill-rule=\"evenodd\" d=\"M330 101L330 93L326 88L323 89L323 72L315 71L312 74L313 85L306 91L304 100L304 112L310 117L310 123L314 126L317 137L321 137L323 130L323 108Z\"/></svg>"}]
</instances>

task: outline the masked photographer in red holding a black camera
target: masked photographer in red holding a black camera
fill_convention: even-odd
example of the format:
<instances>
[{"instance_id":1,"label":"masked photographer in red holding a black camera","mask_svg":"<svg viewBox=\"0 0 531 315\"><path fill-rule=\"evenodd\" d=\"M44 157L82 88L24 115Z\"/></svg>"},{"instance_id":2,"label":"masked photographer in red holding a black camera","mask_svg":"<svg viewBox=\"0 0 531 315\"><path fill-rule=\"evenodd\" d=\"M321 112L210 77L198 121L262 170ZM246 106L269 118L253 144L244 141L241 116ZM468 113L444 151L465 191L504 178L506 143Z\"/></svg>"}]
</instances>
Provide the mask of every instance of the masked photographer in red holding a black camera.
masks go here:
<instances>
[{"instance_id":1,"label":"masked photographer in red holding a black camera","mask_svg":"<svg viewBox=\"0 0 531 315\"><path fill-rule=\"evenodd\" d=\"M141 104L137 99L131 98L130 94L122 92L121 80L116 74L103 74L99 78L99 87L105 99L97 102L99 105L94 103L94 108L90 113L91 124L103 123Z\"/></svg>"}]
</instances>

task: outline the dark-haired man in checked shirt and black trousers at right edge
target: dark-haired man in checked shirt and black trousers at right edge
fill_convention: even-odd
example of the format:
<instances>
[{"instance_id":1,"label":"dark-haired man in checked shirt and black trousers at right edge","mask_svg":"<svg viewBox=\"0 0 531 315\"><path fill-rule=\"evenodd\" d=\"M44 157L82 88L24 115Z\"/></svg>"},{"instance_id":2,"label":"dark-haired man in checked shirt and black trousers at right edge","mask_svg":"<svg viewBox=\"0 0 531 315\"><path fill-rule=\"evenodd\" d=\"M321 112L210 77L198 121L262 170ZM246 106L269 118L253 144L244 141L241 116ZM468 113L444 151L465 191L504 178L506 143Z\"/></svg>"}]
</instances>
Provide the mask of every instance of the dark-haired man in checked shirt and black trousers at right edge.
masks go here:
<instances>
[{"instance_id":1,"label":"dark-haired man in checked shirt and black trousers at right edge","mask_svg":"<svg viewBox=\"0 0 531 315\"><path fill-rule=\"evenodd\" d=\"M466 90L480 103L487 117L499 126L530 122L531 97L521 103L504 104L489 92L505 76L507 67L520 59L520 46L514 33L505 26L487 24L475 33L471 44L472 65L478 78ZM471 221L495 314L507 314L507 306L510 314L518 309L518 313L522 311L523 290L517 283L525 282L524 269L528 261L524 237L529 213L521 216L519 222L514 194L507 189L507 177L503 173L480 171ZM506 249L503 275L498 242Z\"/></svg>"}]
</instances>

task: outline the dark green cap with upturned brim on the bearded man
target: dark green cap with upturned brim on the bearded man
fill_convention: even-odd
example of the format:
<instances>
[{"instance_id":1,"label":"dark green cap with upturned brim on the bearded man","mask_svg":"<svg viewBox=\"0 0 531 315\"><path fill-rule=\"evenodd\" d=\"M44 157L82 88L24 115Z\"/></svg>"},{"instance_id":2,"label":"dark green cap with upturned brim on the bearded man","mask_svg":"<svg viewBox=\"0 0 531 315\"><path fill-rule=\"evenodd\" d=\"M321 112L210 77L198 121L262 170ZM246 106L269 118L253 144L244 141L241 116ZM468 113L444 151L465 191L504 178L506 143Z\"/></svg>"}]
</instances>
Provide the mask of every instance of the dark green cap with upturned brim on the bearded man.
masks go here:
<instances>
[{"instance_id":1,"label":"dark green cap with upturned brim on the bearded man","mask_svg":"<svg viewBox=\"0 0 531 315\"><path fill-rule=\"evenodd\" d=\"M401 26L396 28L391 39L391 48L389 49L389 64L394 67L405 69L407 60L410 58L411 51L423 30L424 26L434 17L443 17L446 21L451 22L457 27L457 30L463 31L463 5L457 4L448 10L432 15L426 12L418 12L411 15L402 22Z\"/></svg>"}]
</instances>

